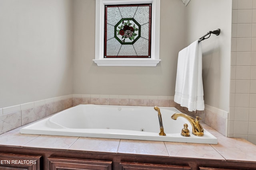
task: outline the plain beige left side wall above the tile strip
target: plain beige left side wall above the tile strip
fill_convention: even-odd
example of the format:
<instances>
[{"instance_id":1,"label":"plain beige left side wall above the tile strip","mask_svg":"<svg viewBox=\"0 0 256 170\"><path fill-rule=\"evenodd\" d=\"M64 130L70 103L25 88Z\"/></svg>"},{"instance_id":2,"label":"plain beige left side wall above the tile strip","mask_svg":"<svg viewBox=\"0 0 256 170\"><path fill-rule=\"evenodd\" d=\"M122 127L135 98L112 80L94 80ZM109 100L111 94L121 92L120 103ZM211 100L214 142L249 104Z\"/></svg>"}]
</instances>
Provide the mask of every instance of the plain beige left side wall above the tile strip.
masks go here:
<instances>
[{"instance_id":1,"label":"plain beige left side wall above the tile strip","mask_svg":"<svg viewBox=\"0 0 256 170\"><path fill-rule=\"evenodd\" d=\"M72 94L72 1L0 1L0 108Z\"/></svg>"}]
</instances>

